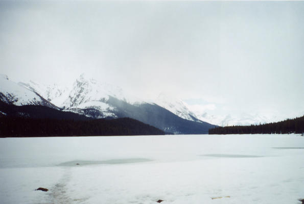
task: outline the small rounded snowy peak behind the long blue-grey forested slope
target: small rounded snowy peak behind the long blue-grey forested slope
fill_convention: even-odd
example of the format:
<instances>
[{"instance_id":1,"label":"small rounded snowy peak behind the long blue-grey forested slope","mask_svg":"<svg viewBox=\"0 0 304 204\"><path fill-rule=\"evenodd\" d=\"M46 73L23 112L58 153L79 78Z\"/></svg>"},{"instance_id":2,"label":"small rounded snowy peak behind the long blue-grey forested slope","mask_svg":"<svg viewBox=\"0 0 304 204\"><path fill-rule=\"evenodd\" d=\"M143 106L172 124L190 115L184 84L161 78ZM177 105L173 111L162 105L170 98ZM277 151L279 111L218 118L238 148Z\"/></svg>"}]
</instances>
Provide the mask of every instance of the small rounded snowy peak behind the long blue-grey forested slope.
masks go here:
<instances>
[{"instance_id":1,"label":"small rounded snowy peak behind the long blue-grey forested slope","mask_svg":"<svg viewBox=\"0 0 304 204\"><path fill-rule=\"evenodd\" d=\"M199 122L196 115L189 110L187 105L181 99L170 97L169 94L159 94L154 104L169 110L183 119Z\"/></svg>"}]
</instances>

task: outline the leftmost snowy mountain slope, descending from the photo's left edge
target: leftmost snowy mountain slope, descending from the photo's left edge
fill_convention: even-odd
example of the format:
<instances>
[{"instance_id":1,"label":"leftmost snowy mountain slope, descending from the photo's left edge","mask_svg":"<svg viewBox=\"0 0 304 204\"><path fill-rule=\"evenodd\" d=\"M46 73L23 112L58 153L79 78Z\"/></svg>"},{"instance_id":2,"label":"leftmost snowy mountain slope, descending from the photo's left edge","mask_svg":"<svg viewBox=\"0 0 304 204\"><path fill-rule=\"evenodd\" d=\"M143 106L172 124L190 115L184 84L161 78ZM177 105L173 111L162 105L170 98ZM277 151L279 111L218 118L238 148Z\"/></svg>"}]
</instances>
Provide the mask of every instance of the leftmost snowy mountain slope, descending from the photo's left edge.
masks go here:
<instances>
[{"instance_id":1,"label":"leftmost snowy mountain slope, descending from the photo's left edge","mask_svg":"<svg viewBox=\"0 0 304 204\"><path fill-rule=\"evenodd\" d=\"M57 108L35 92L10 81L3 74L0 75L0 100L16 106L41 105Z\"/></svg>"}]
</instances>

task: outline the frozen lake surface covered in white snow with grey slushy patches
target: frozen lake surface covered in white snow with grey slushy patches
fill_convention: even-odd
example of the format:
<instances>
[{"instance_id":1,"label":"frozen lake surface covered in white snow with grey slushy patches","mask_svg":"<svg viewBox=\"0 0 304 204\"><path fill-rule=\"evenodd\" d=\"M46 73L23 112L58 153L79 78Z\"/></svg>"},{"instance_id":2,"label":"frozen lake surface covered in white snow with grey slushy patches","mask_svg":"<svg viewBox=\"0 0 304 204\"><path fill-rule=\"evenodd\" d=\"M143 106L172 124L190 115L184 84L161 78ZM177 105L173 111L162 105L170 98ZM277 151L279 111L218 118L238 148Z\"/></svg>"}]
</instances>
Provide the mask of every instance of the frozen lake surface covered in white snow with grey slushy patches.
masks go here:
<instances>
[{"instance_id":1,"label":"frozen lake surface covered in white snow with grey slushy patches","mask_svg":"<svg viewBox=\"0 0 304 204\"><path fill-rule=\"evenodd\" d=\"M292 204L303 185L293 134L0 138L6 204Z\"/></svg>"}]
</instances>

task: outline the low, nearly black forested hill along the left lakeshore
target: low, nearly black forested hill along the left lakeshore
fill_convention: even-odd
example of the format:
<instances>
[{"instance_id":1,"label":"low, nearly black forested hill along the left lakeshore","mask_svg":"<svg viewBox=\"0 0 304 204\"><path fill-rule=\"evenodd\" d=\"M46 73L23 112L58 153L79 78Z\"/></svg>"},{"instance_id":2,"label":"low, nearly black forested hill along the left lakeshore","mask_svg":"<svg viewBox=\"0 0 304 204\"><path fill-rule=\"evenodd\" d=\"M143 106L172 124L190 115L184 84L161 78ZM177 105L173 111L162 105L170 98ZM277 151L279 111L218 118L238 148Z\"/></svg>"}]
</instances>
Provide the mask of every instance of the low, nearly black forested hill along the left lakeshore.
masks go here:
<instances>
[{"instance_id":1,"label":"low, nearly black forested hill along the left lakeshore","mask_svg":"<svg viewBox=\"0 0 304 204\"><path fill-rule=\"evenodd\" d=\"M131 118L112 120L0 117L1 137L165 135Z\"/></svg>"}]
</instances>

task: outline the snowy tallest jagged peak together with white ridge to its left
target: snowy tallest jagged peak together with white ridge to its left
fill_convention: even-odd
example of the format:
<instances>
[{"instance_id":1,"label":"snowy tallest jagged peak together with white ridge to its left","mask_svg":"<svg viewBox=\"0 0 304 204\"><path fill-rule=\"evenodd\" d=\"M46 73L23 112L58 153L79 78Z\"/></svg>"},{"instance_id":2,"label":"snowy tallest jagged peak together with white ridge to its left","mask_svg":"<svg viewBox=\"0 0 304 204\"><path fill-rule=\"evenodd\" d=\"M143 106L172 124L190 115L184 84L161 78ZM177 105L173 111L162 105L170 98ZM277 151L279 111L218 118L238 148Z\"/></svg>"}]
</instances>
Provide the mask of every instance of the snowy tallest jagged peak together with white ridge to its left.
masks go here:
<instances>
[{"instance_id":1,"label":"snowy tallest jagged peak together with white ridge to its left","mask_svg":"<svg viewBox=\"0 0 304 204\"><path fill-rule=\"evenodd\" d=\"M143 101L132 94L123 93L117 86L98 82L81 74L73 87L62 87L56 83L45 85L37 82L19 82L19 85L32 90L52 104L66 110L95 108L107 111L112 108L106 104L109 97L115 97L130 104L141 104ZM108 114L106 114L108 115Z\"/></svg>"}]
</instances>

